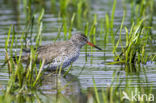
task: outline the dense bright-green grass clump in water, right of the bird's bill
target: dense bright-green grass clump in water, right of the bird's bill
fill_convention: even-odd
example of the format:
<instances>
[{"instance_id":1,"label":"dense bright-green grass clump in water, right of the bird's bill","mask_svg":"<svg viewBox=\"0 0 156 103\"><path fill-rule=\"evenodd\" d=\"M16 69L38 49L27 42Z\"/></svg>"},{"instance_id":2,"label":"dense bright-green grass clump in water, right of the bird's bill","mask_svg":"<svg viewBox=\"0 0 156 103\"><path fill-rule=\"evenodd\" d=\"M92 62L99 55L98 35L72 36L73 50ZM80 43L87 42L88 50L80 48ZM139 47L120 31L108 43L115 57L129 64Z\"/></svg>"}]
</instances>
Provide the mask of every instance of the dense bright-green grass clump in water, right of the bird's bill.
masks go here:
<instances>
[{"instance_id":1,"label":"dense bright-green grass clump in water, right of the bird's bill","mask_svg":"<svg viewBox=\"0 0 156 103\"><path fill-rule=\"evenodd\" d=\"M121 33L116 47L121 44L122 53L116 57L115 63L146 63L147 55L145 53L145 47L148 40L148 34L145 33L146 27L142 26L145 19L142 19L136 25L132 25L130 32L125 27L126 32L126 45L125 48L121 41ZM121 29L120 29L121 31ZM114 48L115 52L116 48Z\"/></svg>"}]
</instances>

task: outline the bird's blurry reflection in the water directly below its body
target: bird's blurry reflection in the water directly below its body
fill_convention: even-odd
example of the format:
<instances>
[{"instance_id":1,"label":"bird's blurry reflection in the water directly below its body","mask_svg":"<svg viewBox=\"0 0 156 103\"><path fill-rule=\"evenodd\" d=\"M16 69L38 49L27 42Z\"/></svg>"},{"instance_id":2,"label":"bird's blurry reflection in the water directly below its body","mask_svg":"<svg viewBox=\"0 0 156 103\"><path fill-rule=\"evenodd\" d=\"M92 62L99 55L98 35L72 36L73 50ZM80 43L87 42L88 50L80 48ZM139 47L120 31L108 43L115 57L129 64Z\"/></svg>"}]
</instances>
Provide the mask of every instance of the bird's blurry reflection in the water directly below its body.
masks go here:
<instances>
[{"instance_id":1,"label":"bird's blurry reflection in the water directly below its body","mask_svg":"<svg viewBox=\"0 0 156 103\"><path fill-rule=\"evenodd\" d=\"M85 94L81 93L81 86L78 78L72 74L66 77L56 73L46 72L43 75L40 90L46 95L49 102L72 101L74 103L86 103Z\"/></svg>"}]
</instances>

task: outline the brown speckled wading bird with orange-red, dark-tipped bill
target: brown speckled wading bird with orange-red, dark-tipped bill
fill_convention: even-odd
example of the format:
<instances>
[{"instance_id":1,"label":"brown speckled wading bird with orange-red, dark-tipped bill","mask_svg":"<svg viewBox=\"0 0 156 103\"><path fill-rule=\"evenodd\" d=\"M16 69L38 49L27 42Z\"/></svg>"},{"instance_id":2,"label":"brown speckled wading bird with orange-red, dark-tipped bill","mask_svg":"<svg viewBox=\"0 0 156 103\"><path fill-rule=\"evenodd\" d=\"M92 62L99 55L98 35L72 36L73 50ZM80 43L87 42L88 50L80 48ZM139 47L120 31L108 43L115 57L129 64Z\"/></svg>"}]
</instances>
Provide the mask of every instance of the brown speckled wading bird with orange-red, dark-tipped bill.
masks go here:
<instances>
[{"instance_id":1,"label":"brown speckled wading bird with orange-red, dark-tipped bill","mask_svg":"<svg viewBox=\"0 0 156 103\"><path fill-rule=\"evenodd\" d=\"M70 38L70 40L40 46L36 52L37 61L44 60L44 68L47 68L48 70L56 70L57 68L60 68L60 66L63 69L78 59L80 49L85 44L95 47L98 50L102 50L89 42L84 34L76 33ZM22 56L21 60L23 62L28 62L29 57L30 52L25 56Z\"/></svg>"}]
</instances>

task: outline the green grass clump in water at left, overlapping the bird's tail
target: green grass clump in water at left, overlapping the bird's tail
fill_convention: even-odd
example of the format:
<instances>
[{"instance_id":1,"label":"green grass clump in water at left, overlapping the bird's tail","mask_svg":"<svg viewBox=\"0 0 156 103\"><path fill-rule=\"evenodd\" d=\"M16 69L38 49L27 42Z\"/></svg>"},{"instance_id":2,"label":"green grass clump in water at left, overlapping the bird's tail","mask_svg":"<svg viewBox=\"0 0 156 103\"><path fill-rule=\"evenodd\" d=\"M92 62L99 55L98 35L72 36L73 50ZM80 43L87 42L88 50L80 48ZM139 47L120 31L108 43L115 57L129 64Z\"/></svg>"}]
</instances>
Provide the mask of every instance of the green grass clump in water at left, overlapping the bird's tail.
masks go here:
<instances>
[{"instance_id":1,"label":"green grass clump in water at left, overlapping the bird's tail","mask_svg":"<svg viewBox=\"0 0 156 103\"><path fill-rule=\"evenodd\" d=\"M36 45L38 46L41 42L41 32L42 32L42 21L44 10L41 11L41 15L38 18L38 34L36 38ZM13 28L13 29L12 29ZM25 31L24 31L25 32ZM36 50L33 46L31 46L30 50L30 61L27 62L26 66L22 64L22 53L24 44L23 41L26 39L24 38L24 34L22 33L20 38L21 48L19 55L17 56L13 54L13 44L17 44L17 39L15 39L16 33L14 30L14 26L11 26L8 31L8 37L5 42L5 52L6 52L6 63L8 64L8 71L10 74L8 85L4 95L9 95L9 93L18 94L18 93L28 93L30 90L37 88L40 85L41 75L42 75L42 68L44 65L44 60L40 63L40 69L37 70L35 59L36 59ZM10 39L10 34L12 33L12 39ZM11 43L9 45L9 43ZM16 45L15 45L16 46ZM9 48L10 47L10 48ZM8 50L8 48L10 50ZM9 57L10 56L10 57ZM4 99L5 101L5 99Z\"/></svg>"}]
</instances>

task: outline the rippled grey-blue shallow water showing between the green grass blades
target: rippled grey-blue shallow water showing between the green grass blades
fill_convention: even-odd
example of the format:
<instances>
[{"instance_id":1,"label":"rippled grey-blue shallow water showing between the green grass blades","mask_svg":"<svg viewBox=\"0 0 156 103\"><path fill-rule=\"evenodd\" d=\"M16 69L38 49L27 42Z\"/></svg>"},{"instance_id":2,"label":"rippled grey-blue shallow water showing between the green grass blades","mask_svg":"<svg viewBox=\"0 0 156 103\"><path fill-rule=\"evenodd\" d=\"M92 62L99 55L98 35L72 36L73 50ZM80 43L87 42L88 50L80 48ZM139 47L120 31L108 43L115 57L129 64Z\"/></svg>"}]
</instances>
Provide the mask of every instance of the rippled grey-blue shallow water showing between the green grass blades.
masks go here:
<instances>
[{"instance_id":1,"label":"rippled grey-blue shallow water showing between the green grass blades","mask_svg":"<svg viewBox=\"0 0 156 103\"><path fill-rule=\"evenodd\" d=\"M105 14L111 13L112 2L108 0L96 0L92 1L91 3L91 13L97 14L97 19L100 20L101 18L105 17ZM45 15L43 18L43 40L42 45L45 45L50 42L54 42L53 40L57 37L58 28L62 25L61 18L58 17L57 14L52 14L50 11L50 6L48 2L45 4L46 10ZM19 6L21 9L23 8L22 4ZM11 24L16 26L17 36L20 37L25 27L25 15L22 10L19 10L17 4L14 6L11 2L5 2L5 0L0 1L0 65L3 64L5 59L5 38L7 37L7 32ZM37 7L36 7L37 8ZM127 17L125 19L124 25L128 27L131 25L130 23L130 5L127 4ZM117 0L116 12L115 12L115 19L114 19L114 30L116 30L122 20L123 16L123 8L121 0ZM148 54L156 54L156 14L153 16L153 47L147 45ZM32 36L35 36L37 30L34 27L34 33ZM130 28L129 28L130 29ZM79 30L76 26L73 28L73 33L76 31L83 31ZM98 29L97 29L98 30ZM104 36L105 34L102 34ZM61 36L63 36L63 32L61 32ZM118 38L118 36L117 36ZM122 39L125 40L124 31L122 32ZM63 39L60 39L63 40ZM103 48L103 38L100 36L96 38L97 45ZM124 43L124 42L123 42ZM18 43L20 46L20 43ZM147 62L146 65L141 64L141 66L132 67L140 68L140 72L132 72L126 73L124 65L108 65L108 62L113 61L114 54L112 53L113 45L108 43L106 48L103 51L99 51L93 48L93 52L91 53L90 47L88 47L87 52L87 61L85 60L86 52L85 47L81 49L79 59L73 63L72 70L70 71L69 75L64 78L57 78L56 74L50 75L50 73L45 73L43 85L40 87L38 94L39 98L42 98L44 101L49 101L52 96L56 96L58 86L57 81L61 82L62 86L66 84L69 85L66 87L65 90L61 91L62 95L67 98L70 98L72 101L76 100L77 102L84 102L86 101L87 95L89 95L90 91L89 88L93 87L93 78L95 79L97 87L107 87L112 83L112 77L115 73L115 82L113 86L120 84L121 88L126 86L126 80L131 81L132 87L137 87L138 85L142 85L145 87L151 87L153 89L153 93L156 90L156 63L155 62ZM120 50L121 48L119 48ZM14 50L19 51L20 48L14 48ZM153 51L152 51L153 50ZM120 51L118 52L120 53ZM65 69L65 71L68 68ZM8 70L7 66L0 68L0 90L3 90L7 85L8 81ZM58 80L57 80L58 79ZM117 79L119 81L117 82ZM87 91L82 93L82 91ZM42 94L43 93L43 94ZM71 97L70 97L71 96ZM155 94L156 96L156 94ZM51 98L55 101L56 98ZM37 101L37 100L34 100Z\"/></svg>"}]
</instances>

